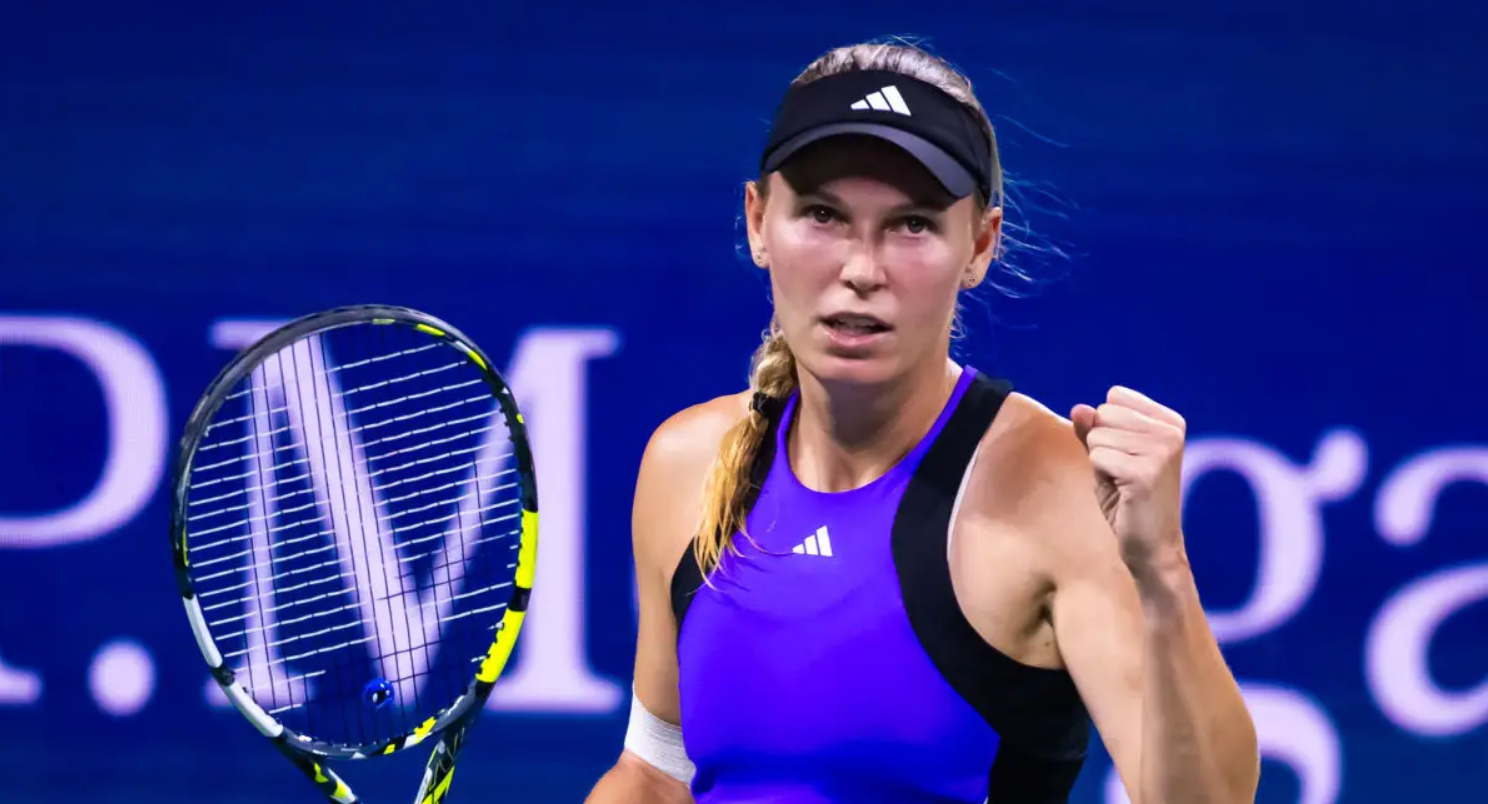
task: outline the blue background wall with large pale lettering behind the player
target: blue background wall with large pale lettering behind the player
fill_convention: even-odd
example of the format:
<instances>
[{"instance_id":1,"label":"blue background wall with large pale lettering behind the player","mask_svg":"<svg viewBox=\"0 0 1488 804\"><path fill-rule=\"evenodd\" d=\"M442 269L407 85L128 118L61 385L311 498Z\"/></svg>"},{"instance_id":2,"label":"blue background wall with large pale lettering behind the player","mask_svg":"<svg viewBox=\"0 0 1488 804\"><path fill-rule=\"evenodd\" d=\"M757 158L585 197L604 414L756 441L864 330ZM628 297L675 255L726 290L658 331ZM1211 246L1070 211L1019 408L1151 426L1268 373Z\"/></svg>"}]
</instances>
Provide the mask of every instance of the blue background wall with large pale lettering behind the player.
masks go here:
<instances>
[{"instance_id":1,"label":"blue background wall with large pale lettering behind the player","mask_svg":"<svg viewBox=\"0 0 1488 804\"><path fill-rule=\"evenodd\" d=\"M784 83L882 34L972 74L1013 223L1070 255L1015 253L1036 281L970 304L963 356L1055 409L1123 383L1190 421L1260 800L1488 795L1479 4L3 16L0 800L314 800L205 695L161 469L232 322L363 301L466 329L540 433L539 597L454 800L582 798L623 733L641 447L741 387L769 316L741 183ZM348 776L406 800L420 762Z\"/></svg>"}]
</instances>

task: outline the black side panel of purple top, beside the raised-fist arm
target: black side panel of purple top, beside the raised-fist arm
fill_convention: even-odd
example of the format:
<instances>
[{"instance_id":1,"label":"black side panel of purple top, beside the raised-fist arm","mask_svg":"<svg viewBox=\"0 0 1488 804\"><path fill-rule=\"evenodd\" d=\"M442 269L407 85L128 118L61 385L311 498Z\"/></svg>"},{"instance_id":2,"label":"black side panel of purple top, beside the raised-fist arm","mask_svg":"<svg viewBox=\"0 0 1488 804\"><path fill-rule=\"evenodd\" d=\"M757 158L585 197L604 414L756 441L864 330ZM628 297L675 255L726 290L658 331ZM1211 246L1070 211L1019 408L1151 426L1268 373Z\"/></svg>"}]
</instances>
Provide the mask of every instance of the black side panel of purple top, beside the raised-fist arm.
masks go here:
<instances>
[{"instance_id":1,"label":"black side panel of purple top, beside the raised-fist arm","mask_svg":"<svg viewBox=\"0 0 1488 804\"><path fill-rule=\"evenodd\" d=\"M1013 661L961 612L946 557L951 509L966 468L1012 386L978 375L926 453L894 518L893 551L905 612L946 682L997 731L991 804L1068 801L1089 716L1068 673Z\"/></svg>"}]
</instances>

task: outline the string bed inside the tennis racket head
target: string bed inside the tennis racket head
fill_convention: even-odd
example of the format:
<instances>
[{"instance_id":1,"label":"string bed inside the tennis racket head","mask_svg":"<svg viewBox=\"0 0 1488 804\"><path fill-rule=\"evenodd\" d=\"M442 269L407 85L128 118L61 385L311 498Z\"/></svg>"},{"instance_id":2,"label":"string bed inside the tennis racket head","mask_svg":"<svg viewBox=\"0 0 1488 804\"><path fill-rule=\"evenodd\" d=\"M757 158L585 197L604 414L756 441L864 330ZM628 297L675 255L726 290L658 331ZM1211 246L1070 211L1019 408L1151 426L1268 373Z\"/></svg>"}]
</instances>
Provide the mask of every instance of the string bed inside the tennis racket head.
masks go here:
<instances>
[{"instance_id":1,"label":"string bed inside the tennis racket head","mask_svg":"<svg viewBox=\"0 0 1488 804\"><path fill-rule=\"evenodd\" d=\"M485 380L454 375L475 369L445 344L390 348L397 328L376 329L372 344L296 342L247 377L207 429L187 500L190 572L225 660L271 715L363 744L464 692L521 535ZM368 704L373 685L393 706Z\"/></svg>"}]
</instances>

